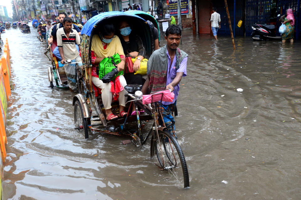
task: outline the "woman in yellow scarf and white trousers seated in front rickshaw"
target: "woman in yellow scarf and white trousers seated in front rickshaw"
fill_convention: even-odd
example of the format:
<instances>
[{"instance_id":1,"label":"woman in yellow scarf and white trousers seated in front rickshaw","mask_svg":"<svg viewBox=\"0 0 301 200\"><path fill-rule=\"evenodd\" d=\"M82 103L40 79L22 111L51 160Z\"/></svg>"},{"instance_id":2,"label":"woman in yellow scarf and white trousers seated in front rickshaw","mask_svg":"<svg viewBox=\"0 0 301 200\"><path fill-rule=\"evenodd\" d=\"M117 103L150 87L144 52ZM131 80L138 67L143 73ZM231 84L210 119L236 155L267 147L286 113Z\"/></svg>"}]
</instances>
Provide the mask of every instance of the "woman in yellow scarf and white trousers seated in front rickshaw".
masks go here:
<instances>
[{"instance_id":1,"label":"woman in yellow scarf and white trousers seated in front rickshaw","mask_svg":"<svg viewBox=\"0 0 301 200\"><path fill-rule=\"evenodd\" d=\"M120 56L120 63L117 64L118 71L124 70L125 65L125 56L123 52L122 45L120 43L119 37L115 36L115 28L113 24L105 24L100 26L96 33L92 36L91 41L91 61L92 68L89 71L89 74L92 75L93 84L101 88L101 97L103 101L104 108L106 110L107 120L115 120L118 116L114 115L111 110L112 98L118 98L119 101L119 115L120 117L125 117L126 112L125 108L125 97L127 91L124 90L124 86L127 85L124 76L117 76L110 83L103 83L99 79L97 67L99 63L107 57L114 56L116 53ZM114 88L112 88L114 87ZM113 90L112 90L113 89Z\"/></svg>"}]
</instances>

